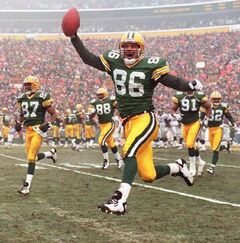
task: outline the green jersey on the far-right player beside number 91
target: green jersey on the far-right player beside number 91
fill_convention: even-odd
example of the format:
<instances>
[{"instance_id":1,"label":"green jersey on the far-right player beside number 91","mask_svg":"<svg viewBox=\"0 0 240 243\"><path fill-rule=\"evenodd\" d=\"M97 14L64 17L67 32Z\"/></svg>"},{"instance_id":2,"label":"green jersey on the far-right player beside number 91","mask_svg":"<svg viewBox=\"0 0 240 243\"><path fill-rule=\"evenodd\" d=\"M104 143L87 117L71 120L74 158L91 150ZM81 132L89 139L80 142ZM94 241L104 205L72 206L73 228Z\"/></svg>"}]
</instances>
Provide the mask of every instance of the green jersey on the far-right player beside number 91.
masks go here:
<instances>
[{"instance_id":1,"label":"green jersey on the far-right player beside number 91","mask_svg":"<svg viewBox=\"0 0 240 243\"><path fill-rule=\"evenodd\" d=\"M227 103L221 103L218 107L211 107L211 116L208 119L209 127L219 127L223 122L224 114L229 112L229 106Z\"/></svg>"}]
</instances>

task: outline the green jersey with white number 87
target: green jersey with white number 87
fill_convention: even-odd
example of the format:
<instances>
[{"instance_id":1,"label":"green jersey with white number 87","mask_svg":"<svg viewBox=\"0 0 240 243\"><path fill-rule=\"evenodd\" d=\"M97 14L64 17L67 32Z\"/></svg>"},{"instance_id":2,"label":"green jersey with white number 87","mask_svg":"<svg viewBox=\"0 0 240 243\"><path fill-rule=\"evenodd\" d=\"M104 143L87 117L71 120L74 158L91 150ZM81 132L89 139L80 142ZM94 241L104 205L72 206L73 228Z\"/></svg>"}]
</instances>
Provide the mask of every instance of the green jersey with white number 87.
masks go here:
<instances>
[{"instance_id":1,"label":"green jersey with white number 87","mask_svg":"<svg viewBox=\"0 0 240 243\"><path fill-rule=\"evenodd\" d=\"M23 93L17 103L23 113L23 124L35 126L45 122L46 110L53 104L53 100L48 93L40 90L32 96Z\"/></svg>"}]
</instances>

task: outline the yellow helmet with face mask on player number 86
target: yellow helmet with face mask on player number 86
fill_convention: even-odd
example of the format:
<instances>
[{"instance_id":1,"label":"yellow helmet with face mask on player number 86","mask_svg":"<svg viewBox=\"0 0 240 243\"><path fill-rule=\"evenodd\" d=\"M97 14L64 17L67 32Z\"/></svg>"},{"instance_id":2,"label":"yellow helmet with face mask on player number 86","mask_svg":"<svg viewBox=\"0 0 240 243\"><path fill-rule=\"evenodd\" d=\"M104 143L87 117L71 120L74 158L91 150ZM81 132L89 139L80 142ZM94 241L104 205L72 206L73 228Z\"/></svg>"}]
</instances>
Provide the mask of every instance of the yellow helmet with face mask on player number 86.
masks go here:
<instances>
[{"instance_id":1,"label":"yellow helmet with face mask on player number 86","mask_svg":"<svg viewBox=\"0 0 240 243\"><path fill-rule=\"evenodd\" d=\"M128 32L122 36L119 49L124 63L133 65L143 58L145 42L139 33Z\"/></svg>"}]
</instances>

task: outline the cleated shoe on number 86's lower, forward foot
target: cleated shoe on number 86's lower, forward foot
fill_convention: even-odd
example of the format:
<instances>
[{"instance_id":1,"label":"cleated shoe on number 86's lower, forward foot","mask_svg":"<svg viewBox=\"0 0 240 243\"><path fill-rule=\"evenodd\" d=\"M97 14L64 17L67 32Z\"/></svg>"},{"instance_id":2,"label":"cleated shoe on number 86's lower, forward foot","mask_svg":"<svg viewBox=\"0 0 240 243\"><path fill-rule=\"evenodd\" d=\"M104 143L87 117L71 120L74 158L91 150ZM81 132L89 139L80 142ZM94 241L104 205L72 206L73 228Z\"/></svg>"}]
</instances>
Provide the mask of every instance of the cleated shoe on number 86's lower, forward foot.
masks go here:
<instances>
[{"instance_id":1,"label":"cleated shoe on number 86's lower, forward foot","mask_svg":"<svg viewBox=\"0 0 240 243\"><path fill-rule=\"evenodd\" d=\"M107 203L98 205L97 208L102 213L124 215L126 213L127 202L123 202L120 191L115 191Z\"/></svg>"}]
</instances>

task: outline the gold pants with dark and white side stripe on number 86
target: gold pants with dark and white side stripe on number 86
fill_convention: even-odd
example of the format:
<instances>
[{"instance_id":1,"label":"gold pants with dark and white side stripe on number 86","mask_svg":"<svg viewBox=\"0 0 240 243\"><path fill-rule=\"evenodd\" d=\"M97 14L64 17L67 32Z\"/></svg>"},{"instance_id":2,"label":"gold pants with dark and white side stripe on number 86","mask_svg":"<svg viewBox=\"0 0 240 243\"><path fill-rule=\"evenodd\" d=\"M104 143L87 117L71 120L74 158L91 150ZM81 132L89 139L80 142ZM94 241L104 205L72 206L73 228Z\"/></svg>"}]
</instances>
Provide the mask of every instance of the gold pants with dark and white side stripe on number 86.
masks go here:
<instances>
[{"instance_id":1,"label":"gold pants with dark and white side stripe on number 86","mask_svg":"<svg viewBox=\"0 0 240 243\"><path fill-rule=\"evenodd\" d=\"M144 181L153 181L156 178L156 170L151 142L157 138L159 128L155 114L136 115L128 118L123 124L126 139L123 156L136 157L139 176Z\"/></svg>"}]
</instances>

